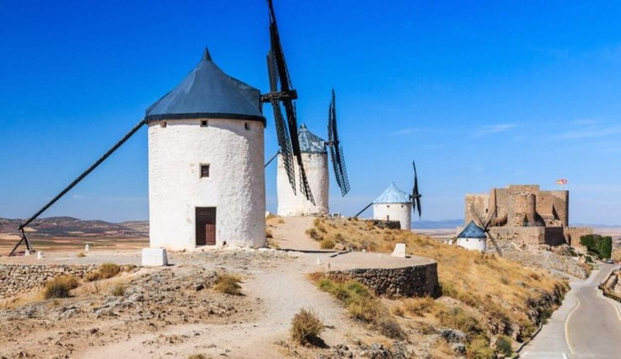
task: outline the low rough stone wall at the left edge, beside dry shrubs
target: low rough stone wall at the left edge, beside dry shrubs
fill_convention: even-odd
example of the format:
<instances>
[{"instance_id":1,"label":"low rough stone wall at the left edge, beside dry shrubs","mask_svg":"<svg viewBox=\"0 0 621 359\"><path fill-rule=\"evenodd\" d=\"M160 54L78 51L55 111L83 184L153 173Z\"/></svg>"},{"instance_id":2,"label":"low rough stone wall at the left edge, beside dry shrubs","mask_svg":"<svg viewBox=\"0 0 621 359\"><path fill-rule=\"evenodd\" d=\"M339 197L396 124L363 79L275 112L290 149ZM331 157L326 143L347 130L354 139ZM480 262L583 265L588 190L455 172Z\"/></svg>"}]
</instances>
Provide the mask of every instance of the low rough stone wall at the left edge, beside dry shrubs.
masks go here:
<instances>
[{"instance_id":1,"label":"low rough stone wall at the left edge, beside dry shrubs","mask_svg":"<svg viewBox=\"0 0 621 359\"><path fill-rule=\"evenodd\" d=\"M78 278L97 270L96 265L0 265L0 298L9 298L43 288L55 276Z\"/></svg>"}]
</instances>

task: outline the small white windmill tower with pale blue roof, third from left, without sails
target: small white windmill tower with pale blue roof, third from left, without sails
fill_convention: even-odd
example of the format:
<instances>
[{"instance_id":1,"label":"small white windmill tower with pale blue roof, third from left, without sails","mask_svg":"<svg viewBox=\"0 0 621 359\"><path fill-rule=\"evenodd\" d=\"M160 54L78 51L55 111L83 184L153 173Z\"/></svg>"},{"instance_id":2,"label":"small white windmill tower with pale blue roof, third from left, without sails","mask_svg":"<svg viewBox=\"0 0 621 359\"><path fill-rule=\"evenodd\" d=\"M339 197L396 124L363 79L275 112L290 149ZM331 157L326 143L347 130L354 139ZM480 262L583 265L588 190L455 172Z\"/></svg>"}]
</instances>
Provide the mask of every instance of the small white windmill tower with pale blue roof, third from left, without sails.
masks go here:
<instances>
[{"instance_id":1,"label":"small white windmill tower with pale blue roof, third from left, without sails","mask_svg":"<svg viewBox=\"0 0 621 359\"><path fill-rule=\"evenodd\" d=\"M398 220L401 229L412 228L412 199L410 195L401 191L391 183L390 186L373 201L373 219Z\"/></svg>"}]
</instances>

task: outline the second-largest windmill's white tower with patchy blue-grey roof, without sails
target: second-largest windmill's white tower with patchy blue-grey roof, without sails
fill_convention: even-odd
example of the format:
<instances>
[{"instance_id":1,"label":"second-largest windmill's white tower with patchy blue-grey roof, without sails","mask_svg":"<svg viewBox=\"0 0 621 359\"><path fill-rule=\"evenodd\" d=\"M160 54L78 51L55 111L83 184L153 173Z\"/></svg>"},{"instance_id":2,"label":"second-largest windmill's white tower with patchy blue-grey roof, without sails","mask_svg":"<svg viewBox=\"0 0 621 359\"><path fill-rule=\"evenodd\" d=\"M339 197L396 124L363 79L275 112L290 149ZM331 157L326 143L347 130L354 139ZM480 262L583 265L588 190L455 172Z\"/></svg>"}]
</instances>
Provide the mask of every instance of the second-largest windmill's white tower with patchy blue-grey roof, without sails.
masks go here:
<instances>
[{"instance_id":1,"label":"second-largest windmill's white tower with patchy blue-grey roof, without sails","mask_svg":"<svg viewBox=\"0 0 621 359\"><path fill-rule=\"evenodd\" d=\"M325 141L319 136L312 134L305 124L298 131L302 163L306 171L311 193L315 204L306 199L299 191L293 193L284 161L278 155L278 170L276 174L276 190L278 191L278 215L279 216L324 216L330 211L328 203L328 191L330 178L328 174L328 152L325 149ZM299 186L299 168L294 162L296 184Z\"/></svg>"}]
</instances>

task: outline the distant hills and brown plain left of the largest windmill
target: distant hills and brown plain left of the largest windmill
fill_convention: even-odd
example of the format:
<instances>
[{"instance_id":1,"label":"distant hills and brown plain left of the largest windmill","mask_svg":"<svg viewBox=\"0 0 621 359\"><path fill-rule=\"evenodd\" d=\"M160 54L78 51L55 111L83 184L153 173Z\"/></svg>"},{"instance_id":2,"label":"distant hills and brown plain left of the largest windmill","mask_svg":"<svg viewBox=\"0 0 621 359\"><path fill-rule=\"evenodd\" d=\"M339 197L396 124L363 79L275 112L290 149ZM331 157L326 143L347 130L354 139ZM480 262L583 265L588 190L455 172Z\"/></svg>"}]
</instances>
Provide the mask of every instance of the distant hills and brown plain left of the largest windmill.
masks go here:
<instances>
[{"instance_id":1,"label":"distant hills and brown plain left of the largest windmill","mask_svg":"<svg viewBox=\"0 0 621 359\"><path fill-rule=\"evenodd\" d=\"M0 218L0 233L15 232L23 219ZM36 219L27 227L29 237L148 237L148 221L109 223L73 217Z\"/></svg>"}]
</instances>

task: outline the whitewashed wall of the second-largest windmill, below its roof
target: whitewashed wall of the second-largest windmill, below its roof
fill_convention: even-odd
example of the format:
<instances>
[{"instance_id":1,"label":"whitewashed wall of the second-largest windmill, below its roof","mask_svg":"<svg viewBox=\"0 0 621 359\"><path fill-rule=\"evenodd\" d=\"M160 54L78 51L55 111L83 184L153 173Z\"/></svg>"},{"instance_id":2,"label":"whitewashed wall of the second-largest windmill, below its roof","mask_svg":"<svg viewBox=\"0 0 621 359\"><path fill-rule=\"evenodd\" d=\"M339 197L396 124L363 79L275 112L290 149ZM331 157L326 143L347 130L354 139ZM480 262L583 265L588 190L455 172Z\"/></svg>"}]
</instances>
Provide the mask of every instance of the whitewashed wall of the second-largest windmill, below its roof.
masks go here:
<instances>
[{"instance_id":1,"label":"whitewashed wall of the second-largest windmill, below its roof","mask_svg":"<svg viewBox=\"0 0 621 359\"><path fill-rule=\"evenodd\" d=\"M278 191L279 216L323 216L330 212L328 192L330 178L328 174L327 153L302 153L302 163L311 187L315 205L307 200L299 191L299 170L295 161L297 196L291 189L284 161L278 155L278 171L276 174L276 191Z\"/></svg>"}]
</instances>

